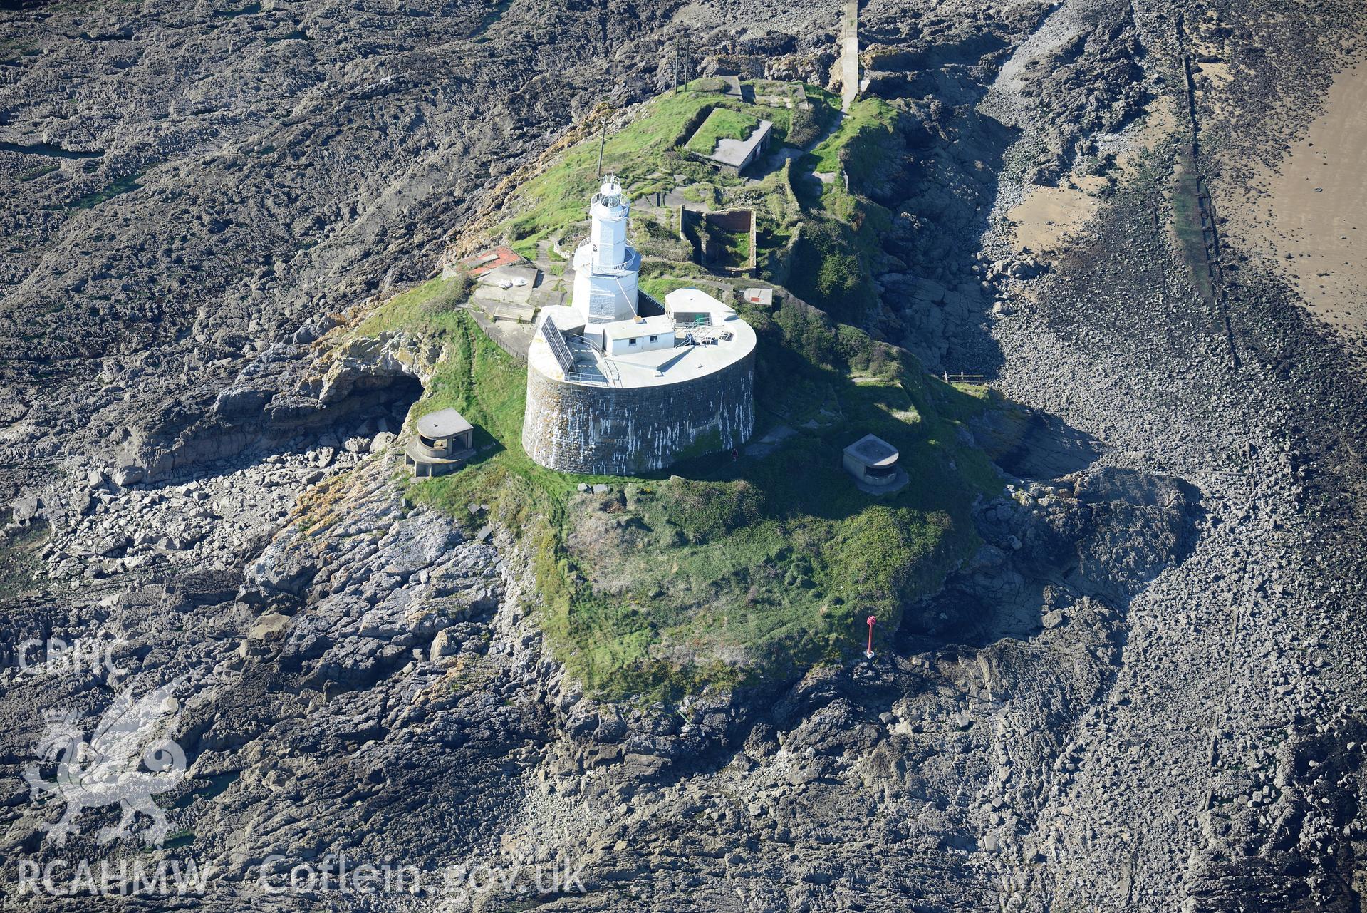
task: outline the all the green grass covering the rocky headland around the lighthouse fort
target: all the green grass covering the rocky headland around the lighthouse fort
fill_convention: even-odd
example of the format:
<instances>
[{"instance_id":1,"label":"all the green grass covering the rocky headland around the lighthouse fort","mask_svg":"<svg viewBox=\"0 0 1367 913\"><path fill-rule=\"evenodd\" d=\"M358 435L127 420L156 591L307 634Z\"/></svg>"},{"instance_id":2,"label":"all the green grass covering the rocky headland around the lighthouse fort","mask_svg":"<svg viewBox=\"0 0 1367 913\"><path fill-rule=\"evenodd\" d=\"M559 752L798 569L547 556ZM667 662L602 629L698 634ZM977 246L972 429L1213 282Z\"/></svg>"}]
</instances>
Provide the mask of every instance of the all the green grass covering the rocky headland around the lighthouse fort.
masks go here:
<instances>
[{"instance_id":1,"label":"all the green grass covering the rocky headland around the lighthouse fort","mask_svg":"<svg viewBox=\"0 0 1367 913\"><path fill-rule=\"evenodd\" d=\"M755 87L768 104L726 98L697 83L658 98L608 138L604 156L633 197L678 190L682 174L690 176L682 191L714 206L745 201L761 215L764 253L783 250L782 271L761 257L761 275L774 284L824 279L839 297L833 313L782 287L772 309L741 305L759 333L759 420L740 459L700 454L644 478L586 478L537 466L521 447L526 366L455 306L458 280L432 280L390 299L357 328L402 328L443 344L444 358L416 411L459 409L476 425L480 455L454 476L409 484L409 498L462 522L470 522L472 502L489 504L530 556L551 646L571 674L607 696L677 696L707 683L790 677L857 653L867 615L878 615L878 630L889 634L904 605L938 588L971 554L972 502L998 485L987 457L958 433L983 400L839 321L841 302L872 294L872 254L863 235L880 216L842 180L804 183L802 174L831 163L869 167L875 153L861 142L887 128L895 112L852 112L833 130L834 100L820 89ZM797 131L807 144L830 135L813 153L761 168L760 183L745 183L679 149L701 123L700 112L718 108L772 120L776 142ZM540 241L573 241L596 185L596 139L571 146L509 200L488 239L529 254ZM858 226L842 215L848 210ZM711 276L689 262L685 250L667 243L667 210L633 215L648 290L696 283L726 295L729 284L752 282ZM794 235L812 241L793 245ZM652 238L660 242L653 253ZM807 262L813 257L815 267ZM822 294L793 291L830 303ZM901 450L912 481L895 495L867 495L841 467L842 448L869 432ZM606 481L611 492L578 493L582 481Z\"/></svg>"}]
</instances>

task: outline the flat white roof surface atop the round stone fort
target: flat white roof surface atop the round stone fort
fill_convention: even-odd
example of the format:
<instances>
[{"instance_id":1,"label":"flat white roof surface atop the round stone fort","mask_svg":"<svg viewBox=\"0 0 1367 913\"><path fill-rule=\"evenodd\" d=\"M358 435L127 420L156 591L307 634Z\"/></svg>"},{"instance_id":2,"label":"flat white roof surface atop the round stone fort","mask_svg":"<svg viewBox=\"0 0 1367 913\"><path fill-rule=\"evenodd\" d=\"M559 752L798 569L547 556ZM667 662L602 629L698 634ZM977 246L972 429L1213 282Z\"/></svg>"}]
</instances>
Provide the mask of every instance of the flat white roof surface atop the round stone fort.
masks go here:
<instances>
[{"instance_id":1,"label":"flat white roof surface atop the round stone fort","mask_svg":"<svg viewBox=\"0 0 1367 913\"><path fill-rule=\"evenodd\" d=\"M697 288L678 288L664 299L671 305L671 310L674 308L688 312L707 310L712 314L712 325L692 331L694 343L690 346L615 357L604 355L582 338L570 336L566 342L577 369L582 366L577 370L582 377L570 379L567 383L585 387L666 387L705 377L755 351L755 328L707 292ZM560 329L582 332L584 321L576 317L571 308L547 308L541 313L554 320ZM677 332L675 338L682 339L684 333ZM526 353L526 364L529 370L539 370L547 377L559 380L563 376L551 346L540 336L533 338ZM586 377L601 377L601 380Z\"/></svg>"}]
</instances>

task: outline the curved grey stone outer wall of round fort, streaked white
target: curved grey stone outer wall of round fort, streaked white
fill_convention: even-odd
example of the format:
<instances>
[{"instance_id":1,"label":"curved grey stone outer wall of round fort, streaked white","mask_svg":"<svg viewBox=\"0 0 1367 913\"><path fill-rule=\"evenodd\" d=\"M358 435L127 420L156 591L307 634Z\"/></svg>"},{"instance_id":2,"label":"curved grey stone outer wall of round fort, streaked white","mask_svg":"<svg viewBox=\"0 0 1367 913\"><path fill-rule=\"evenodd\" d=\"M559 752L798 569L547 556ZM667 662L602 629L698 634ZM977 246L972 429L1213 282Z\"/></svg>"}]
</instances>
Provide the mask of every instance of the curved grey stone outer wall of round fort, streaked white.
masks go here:
<instances>
[{"instance_id":1,"label":"curved grey stone outer wall of round fort, streaked white","mask_svg":"<svg viewBox=\"0 0 1367 913\"><path fill-rule=\"evenodd\" d=\"M606 387L526 372L522 447L562 473L636 476L744 444L755 431L755 353L673 384Z\"/></svg>"}]
</instances>

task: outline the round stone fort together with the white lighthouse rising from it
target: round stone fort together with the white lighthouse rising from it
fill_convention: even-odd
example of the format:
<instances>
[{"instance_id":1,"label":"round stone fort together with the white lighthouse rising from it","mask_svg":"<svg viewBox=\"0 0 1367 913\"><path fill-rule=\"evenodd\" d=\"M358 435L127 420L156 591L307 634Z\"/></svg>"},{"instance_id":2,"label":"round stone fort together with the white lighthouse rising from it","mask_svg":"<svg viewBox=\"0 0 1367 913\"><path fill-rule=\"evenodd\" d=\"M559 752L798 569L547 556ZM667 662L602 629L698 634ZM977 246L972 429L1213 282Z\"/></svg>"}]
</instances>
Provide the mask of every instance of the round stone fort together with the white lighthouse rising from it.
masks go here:
<instances>
[{"instance_id":1,"label":"round stone fort together with the white lighthouse rising from it","mask_svg":"<svg viewBox=\"0 0 1367 913\"><path fill-rule=\"evenodd\" d=\"M740 447L755 428L755 331L697 290L637 290L630 209L608 176L574 257L574 299L528 350L522 447L559 472L638 474Z\"/></svg>"}]
</instances>

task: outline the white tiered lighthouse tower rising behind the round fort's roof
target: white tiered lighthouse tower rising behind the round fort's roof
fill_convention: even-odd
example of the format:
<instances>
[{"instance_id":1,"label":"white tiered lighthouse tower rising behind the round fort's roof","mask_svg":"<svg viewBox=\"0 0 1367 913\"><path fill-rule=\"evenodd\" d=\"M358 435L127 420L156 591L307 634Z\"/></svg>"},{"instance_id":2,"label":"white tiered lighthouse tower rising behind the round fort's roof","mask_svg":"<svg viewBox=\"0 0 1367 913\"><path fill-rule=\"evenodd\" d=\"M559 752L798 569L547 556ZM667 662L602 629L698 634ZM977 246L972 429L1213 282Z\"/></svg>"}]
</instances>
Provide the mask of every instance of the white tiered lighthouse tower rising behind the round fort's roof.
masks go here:
<instances>
[{"instance_id":1,"label":"white tiered lighthouse tower rising behind the round fort's roof","mask_svg":"<svg viewBox=\"0 0 1367 913\"><path fill-rule=\"evenodd\" d=\"M601 324L636 317L641 254L626 241L630 212L621 182L615 175L604 176L589 205L592 230L574 251L573 308L586 336L601 335Z\"/></svg>"}]
</instances>

